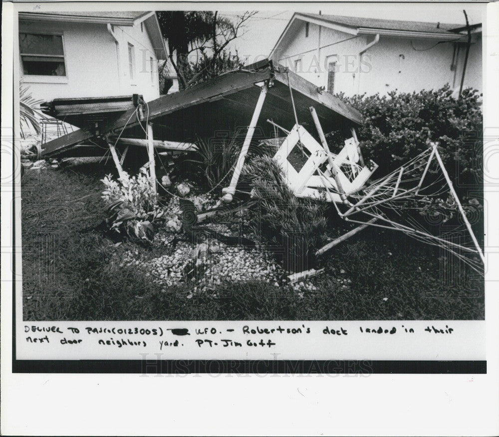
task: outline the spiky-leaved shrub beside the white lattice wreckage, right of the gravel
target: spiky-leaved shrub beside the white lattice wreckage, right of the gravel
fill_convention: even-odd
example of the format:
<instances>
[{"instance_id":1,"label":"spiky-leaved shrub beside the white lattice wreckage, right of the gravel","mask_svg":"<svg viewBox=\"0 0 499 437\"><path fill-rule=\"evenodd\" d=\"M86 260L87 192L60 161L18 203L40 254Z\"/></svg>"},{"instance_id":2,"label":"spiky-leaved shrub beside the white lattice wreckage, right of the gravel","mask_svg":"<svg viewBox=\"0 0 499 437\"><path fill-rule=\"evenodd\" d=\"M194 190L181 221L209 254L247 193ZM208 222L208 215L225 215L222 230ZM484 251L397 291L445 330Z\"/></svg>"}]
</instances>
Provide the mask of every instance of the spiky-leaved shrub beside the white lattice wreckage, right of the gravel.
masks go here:
<instances>
[{"instance_id":1,"label":"spiky-leaved shrub beside the white lattice wreckage, right of the gravel","mask_svg":"<svg viewBox=\"0 0 499 437\"><path fill-rule=\"evenodd\" d=\"M295 197L269 156L256 156L243 168L259 207L250 216L253 232L282 254L285 270L310 268L326 229L326 202Z\"/></svg>"}]
</instances>

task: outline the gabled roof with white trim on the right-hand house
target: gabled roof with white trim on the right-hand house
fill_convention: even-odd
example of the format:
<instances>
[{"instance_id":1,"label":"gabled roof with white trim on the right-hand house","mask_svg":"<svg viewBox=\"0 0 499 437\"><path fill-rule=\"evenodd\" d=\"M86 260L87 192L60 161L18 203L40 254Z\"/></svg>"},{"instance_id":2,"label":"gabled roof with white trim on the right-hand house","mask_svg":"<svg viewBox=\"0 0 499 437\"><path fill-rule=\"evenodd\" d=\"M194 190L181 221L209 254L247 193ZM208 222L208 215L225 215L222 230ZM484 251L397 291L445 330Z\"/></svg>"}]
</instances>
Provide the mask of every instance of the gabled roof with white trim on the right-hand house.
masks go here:
<instances>
[{"instance_id":1,"label":"gabled roof with white trim on the right-hand house","mask_svg":"<svg viewBox=\"0 0 499 437\"><path fill-rule=\"evenodd\" d=\"M296 31L303 21L339 30L351 35L380 34L402 38L432 38L442 41L454 41L464 36L463 33L459 33L463 31L462 24L388 20L296 12L293 14L286 28L277 40L277 43L270 52L269 58L275 57L286 34ZM480 25L476 25L475 27L480 27ZM466 30L466 27L464 27L464 30Z\"/></svg>"}]
</instances>

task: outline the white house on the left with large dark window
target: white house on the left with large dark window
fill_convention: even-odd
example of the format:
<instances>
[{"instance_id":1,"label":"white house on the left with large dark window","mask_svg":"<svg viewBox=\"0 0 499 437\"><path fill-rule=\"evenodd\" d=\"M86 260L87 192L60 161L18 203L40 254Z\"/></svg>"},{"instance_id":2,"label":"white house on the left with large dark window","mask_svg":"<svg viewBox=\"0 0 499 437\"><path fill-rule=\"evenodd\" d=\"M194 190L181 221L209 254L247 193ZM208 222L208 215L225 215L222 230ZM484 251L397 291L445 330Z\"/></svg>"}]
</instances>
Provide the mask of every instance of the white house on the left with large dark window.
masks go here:
<instances>
[{"instance_id":1,"label":"white house on the left with large dark window","mask_svg":"<svg viewBox=\"0 0 499 437\"><path fill-rule=\"evenodd\" d=\"M19 12L19 75L36 99L160 96L154 11Z\"/></svg>"}]
</instances>

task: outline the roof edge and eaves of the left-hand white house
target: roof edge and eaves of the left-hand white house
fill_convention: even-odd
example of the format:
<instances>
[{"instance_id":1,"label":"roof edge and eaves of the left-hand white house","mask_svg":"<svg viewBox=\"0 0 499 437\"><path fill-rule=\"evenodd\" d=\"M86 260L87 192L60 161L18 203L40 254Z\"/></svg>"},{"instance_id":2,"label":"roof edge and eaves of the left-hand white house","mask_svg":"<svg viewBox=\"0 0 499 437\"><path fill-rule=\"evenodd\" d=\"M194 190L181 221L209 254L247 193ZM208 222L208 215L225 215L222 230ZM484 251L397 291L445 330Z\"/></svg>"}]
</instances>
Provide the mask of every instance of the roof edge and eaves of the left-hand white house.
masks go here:
<instances>
[{"instance_id":1,"label":"roof edge and eaves of the left-hand white house","mask_svg":"<svg viewBox=\"0 0 499 437\"><path fill-rule=\"evenodd\" d=\"M158 59L166 59L165 41L156 12L151 10L116 11L46 11L19 12L20 20L28 21L66 21L80 23L101 23L117 26L133 26L144 22Z\"/></svg>"}]
</instances>

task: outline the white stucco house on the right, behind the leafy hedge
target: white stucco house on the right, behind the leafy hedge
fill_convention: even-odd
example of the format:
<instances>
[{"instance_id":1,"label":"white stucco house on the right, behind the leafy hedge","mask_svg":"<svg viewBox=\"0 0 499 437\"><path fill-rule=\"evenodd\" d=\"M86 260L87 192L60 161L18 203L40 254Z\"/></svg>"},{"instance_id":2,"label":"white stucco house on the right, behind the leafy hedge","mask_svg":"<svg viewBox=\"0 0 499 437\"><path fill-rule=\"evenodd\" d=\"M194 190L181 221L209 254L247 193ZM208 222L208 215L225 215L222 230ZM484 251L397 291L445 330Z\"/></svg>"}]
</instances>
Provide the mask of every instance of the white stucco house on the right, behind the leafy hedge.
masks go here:
<instances>
[{"instance_id":1,"label":"white stucco house on the right, behind the leafy hedge","mask_svg":"<svg viewBox=\"0 0 499 437\"><path fill-rule=\"evenodd\" d=\"M330 93L437 89L480 92L482 26L295 13L270 53Z\"/></svg>"}]
</instances>

